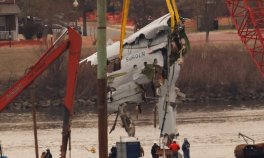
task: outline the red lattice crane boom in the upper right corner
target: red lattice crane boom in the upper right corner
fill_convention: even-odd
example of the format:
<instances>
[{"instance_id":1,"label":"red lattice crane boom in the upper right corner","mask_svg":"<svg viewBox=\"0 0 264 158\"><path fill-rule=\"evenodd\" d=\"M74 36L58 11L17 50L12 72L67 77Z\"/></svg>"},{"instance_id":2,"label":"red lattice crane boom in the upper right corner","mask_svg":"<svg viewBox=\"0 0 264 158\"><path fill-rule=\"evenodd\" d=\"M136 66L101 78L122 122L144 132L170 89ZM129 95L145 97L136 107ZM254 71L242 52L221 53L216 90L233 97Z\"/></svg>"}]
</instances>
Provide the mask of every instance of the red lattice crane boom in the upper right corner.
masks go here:
<instances>
[{"instance_id":1,"label":"red lattice crane boom in the upper right corner","mask_svg":"<svg viewBox=\"0 0 264 158\"><path fill-rule=\"evenodd\" d=\"M264 77L264 0L225 0L238 34Z\"/></svg>"}]
</instances>

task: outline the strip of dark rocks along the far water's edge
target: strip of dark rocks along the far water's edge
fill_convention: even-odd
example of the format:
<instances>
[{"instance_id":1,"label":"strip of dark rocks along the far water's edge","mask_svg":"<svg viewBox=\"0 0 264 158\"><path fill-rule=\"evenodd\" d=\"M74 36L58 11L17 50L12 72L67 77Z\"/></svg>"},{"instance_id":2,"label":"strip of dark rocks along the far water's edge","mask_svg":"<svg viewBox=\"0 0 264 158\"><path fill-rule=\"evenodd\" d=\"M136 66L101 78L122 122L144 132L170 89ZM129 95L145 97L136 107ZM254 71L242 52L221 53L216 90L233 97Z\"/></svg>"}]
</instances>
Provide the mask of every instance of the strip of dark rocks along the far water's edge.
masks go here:
<instances>
[{"instance_id":1,"label":"strip of dark rocks along the far water's edge","mask_svg":"<svg viewBox=\"0 0 264 158\"><path fill-rule=\"evenodd\" d=\"M0 95L3 95L5 86L0 85ZM52 88L50 91L55 91ZM29 90L26 90L29 91ZM177 104L186 102L198 102L198 103L208 103L208 102L228 102L228 101L250 101L250 100L264 100L264 88L257 90L246 89L243 86L232 87L230 85L221 84L217 87L206 86L205 90L202 92L193 89L186 89L186 97L178 96L176 99ZM27 95L26 95L27 94ZM29 92L22 93L16 98L7 109L27 109L32 108ZM58 91L59 95L53 95L50 99L49 97L37 97L36 96L36 107L37 108L59 108L64 105L63 96L65 92L63 90ZM61 98L61 99L58 99ZM154 103L150 101L149 103ZM97 104L97 97L93 96L91 98L76 98L75 106L93 106Z\"/></svg>"}]
</instances>

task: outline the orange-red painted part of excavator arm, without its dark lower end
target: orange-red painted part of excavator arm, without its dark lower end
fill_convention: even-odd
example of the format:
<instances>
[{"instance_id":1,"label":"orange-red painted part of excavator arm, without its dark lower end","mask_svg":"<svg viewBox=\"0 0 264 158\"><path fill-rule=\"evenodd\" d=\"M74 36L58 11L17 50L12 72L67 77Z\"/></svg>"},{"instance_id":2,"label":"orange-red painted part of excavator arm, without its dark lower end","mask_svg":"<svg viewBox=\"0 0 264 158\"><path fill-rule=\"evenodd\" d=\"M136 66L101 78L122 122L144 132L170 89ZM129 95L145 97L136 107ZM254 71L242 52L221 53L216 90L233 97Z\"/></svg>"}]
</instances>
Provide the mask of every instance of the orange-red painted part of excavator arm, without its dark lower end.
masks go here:
<instances>
[{"instance_id":1,"label":"orange-red painted part of excavator arm, without its dark lower end","mask_svg":"<svg viewBox=\"0 0 264 158\"><path fill-rule=\"evenodd\" d=\"M66 33L65 31L64 33ZM41 56L41 58L30 68L30 70L3 96L0 97L0 112L12 102L26 87L28 87L52 62L54 62L68 48L68 75L67 75L67 91L64 100L65 106L73 113L73 100L75 93L75 85L77 79L77 71L79 66L82 39L78 32L68 27L69 39L62 42L51 53L55 43ZM63 33L63 34L64 34ZM62 35L63 35L62 34ZM61 35L61 36L62 36Z\"/></svg>"}]
</instances>

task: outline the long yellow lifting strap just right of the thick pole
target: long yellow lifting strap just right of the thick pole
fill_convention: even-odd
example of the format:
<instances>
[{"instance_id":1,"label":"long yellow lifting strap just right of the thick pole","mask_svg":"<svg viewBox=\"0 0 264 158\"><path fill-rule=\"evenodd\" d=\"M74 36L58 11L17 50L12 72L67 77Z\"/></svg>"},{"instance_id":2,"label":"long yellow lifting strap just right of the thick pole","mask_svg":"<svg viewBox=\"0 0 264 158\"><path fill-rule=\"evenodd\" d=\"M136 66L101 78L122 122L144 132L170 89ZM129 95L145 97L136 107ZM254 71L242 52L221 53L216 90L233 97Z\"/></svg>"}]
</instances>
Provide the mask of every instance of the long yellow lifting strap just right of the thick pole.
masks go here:
<instances>
[{"instance_id":1,"label":"long yellow lifting strap just right of the thick pole","mask_svg":"<svg viewBox=\"0 0 264 158\"><path fill-rule=\"evenodd\" d=\"M130 3L130 0L124 0L123 11L122 11L121 35L120 35L120 49L119 49L119 55L118 55L120 60L122 59L123 41L125 38L125 26L126 26L128 11L129 11L129 3Z\"/></svg>"}]
</instances>

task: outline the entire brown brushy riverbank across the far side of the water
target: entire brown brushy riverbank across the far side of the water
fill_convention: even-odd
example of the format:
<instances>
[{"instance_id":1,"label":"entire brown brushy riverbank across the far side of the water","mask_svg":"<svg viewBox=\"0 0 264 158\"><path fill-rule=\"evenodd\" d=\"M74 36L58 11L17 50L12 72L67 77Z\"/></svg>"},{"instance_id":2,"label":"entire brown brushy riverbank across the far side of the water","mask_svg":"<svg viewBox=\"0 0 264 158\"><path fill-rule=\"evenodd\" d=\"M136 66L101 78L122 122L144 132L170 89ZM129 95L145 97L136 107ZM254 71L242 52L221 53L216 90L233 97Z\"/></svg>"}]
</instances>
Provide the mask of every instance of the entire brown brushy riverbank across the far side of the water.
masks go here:
<instances>
[{"instance_id":1,"label":"entire brown brushy riverbank across the far side of the water","mask_svg":"<svg viewBox=\"0 0 264 158\"><path fill-rule=\"evenodd\" d=\"M0 53L0 95L14 84L38 58L43 48L4 49ZM82 48L82 58L96 52L95 46ZM62 56L59 62L67 59ZM66 65L53 64L35 82L37 106L42 108L61 107L65 96ZM75 104L96 105L96 67L82 64L78 73ZM263 77L242 44L199 44L192 45L191 52L184 56L176 84L186 98L183 102L250 101L264 99ZM152 102L153 103L153 102ZM11 103L9 108L31 108L30 91L25 90Z\"/></svg>"}]
</instances>

